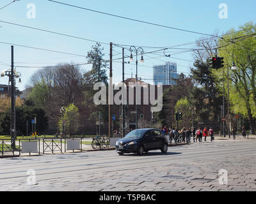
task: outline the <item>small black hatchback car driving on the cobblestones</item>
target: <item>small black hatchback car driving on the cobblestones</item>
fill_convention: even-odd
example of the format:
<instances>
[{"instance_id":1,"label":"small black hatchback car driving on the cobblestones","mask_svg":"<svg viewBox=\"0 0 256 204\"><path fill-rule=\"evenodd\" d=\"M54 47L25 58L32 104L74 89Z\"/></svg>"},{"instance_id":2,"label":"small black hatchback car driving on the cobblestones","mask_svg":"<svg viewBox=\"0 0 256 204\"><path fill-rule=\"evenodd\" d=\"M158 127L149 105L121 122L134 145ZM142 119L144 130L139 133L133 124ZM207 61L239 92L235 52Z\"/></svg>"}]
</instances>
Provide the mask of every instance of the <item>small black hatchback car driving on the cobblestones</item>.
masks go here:
<instances>
[{"instance_id":1,"label":"small black hatchback car driving on the cobblestones","mask_svg":"<svg viewBox=\"0 0 256 204\"><path fill-rule=\"evenodd\" d=\"M115 147L116 152L120 155L124 153L141 155L143 152L156 149L166 153L168 151L168 141L159 129L136 129L118 140Z\"/></svg>"}]
</instances>

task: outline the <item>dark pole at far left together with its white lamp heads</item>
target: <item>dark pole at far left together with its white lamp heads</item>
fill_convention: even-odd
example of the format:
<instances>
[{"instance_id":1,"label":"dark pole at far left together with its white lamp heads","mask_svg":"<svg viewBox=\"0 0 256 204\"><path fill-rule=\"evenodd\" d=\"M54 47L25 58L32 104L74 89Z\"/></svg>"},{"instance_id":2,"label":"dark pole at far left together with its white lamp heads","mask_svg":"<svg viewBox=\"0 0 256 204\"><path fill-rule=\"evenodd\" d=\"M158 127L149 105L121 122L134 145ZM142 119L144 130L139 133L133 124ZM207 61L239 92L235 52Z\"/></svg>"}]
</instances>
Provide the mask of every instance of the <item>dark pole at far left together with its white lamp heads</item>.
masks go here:
<instances>
[{"instance_id":1,"label":"dark pole at far left together with its white lamp heads","mask_svg":"<svg viewBox=\"0 0 256 204\"><path fill-rule=\"evenodd\" d=\"M15 149L15 139L16 139L16 124L15 124L15 78L20 78L21 74L14 70L14 60L13 60L13 46L11 47L12 54L12 64L11 69L3 70L1 72L1 77L7 76L9 77L9 82L11 82L11 124L10 124L10 136L11 136L11 145L12 149ZM21 80L19 79L19 83Z\"/></svg>"}]
</instances>

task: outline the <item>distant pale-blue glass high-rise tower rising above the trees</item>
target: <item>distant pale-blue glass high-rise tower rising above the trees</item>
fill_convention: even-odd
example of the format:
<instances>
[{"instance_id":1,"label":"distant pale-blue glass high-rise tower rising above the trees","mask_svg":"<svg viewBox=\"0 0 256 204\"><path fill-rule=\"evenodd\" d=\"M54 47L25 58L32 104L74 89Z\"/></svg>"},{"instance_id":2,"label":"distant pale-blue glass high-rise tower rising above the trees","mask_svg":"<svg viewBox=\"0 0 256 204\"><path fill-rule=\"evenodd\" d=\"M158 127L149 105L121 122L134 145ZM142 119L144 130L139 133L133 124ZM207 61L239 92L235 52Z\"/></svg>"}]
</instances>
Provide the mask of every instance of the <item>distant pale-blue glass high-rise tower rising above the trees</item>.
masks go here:
<instances>
[{"instance_id":1,"label":"distant pale-blue glass high-rise tower rising above the trees","mask_svg":"<svg viewBox=\"0 0 256 204\"><path fill-rule=\"evenodd\" d=\"M178 78L177 64L175 62L166 62L163 65L153 66L153 71L154 84L175 85L175 79Z\"/></svg>"}]
</instances>

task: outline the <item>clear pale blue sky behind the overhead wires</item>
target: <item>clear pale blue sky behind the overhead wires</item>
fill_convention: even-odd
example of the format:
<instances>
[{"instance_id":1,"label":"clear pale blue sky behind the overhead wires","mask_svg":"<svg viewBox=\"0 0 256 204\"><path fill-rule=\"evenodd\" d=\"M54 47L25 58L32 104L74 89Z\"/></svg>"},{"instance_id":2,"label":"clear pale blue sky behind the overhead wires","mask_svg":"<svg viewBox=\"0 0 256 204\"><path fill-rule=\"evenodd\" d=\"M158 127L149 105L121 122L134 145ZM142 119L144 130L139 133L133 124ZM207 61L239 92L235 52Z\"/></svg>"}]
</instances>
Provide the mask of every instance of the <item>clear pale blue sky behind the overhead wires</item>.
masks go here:
<instances>
[{"instance_id":1,"label":"clear pale blue sky behind the overhead wires","mask_svg":"<svg viewBox=\"0 0 256 204\"><path fill-rule=\"evenodd\" d=\"M11 1L12 0L0 0L0 8ZM113 13L115 15L206 34L213 34L215 31L219 31L220 34L223 34L231 27L239 29L239 26L246 22L256 22L255 0L59 1L90 8L92 10ZM33 3L36 6L35 19L27 18L27 5L29 3ZM226 3L228 6L227 19L219 18L220 9L218 7L221 3ZM140 22L115 18L92 11L79 10L47 0L20 0L12 3L0 10L0 20L70 34L104 43L113 42L122 45L145 47L171 47L193 42L202 37L200 34L141 24ZM79 55L86 55L92 45L95 45L95 43L91 41L44 33L42 31L26 29L3 22L0 22L0 26L0 42L4 43L58 50ZM102 47L104 47L106 54L105 59L109 59L109 46L102 45ZM195 44L180 48L195 48ZM152 50L157 49L145 48L144 52ZM122 48L114 47L113 59L121 57L121 52ZM0 71L8 68L8 65L10 65L10 53L11 45L0 43ZM193 61L193 53L176 53L177 51L172 51L170 54L175 54L173 57L186 59L187 61L159 57L153 54L145 55L145 63L143 66L140 66L141 64L139 63L138 77L141 77L145 82L152 82L152 66L154 64L163 64L164 61L177 62L179 73L189 73L189 66L193 65L193 62L189 62ZM129 54L128 50L126 50L125 55ZM54 66L60 62L86 63L85 57L57 54L17 46L14 46L14 57L15 66ZM152 59L152 57L157 58ZM121 60L113 63L114 82L122 80L122 64L120 62ZM89 70L90 66L86 65L82 68ZM16 70L22 74L22 84L17 84L17 87L23 90L25 86L28 85L29 77L31 77L38 68L16 68ZM131 77L131 72L134 77L136 67L131 64L125 65L125 78ZM0 84L8 84L8 78L0 78Z\"/></svg>"}]
</instances>

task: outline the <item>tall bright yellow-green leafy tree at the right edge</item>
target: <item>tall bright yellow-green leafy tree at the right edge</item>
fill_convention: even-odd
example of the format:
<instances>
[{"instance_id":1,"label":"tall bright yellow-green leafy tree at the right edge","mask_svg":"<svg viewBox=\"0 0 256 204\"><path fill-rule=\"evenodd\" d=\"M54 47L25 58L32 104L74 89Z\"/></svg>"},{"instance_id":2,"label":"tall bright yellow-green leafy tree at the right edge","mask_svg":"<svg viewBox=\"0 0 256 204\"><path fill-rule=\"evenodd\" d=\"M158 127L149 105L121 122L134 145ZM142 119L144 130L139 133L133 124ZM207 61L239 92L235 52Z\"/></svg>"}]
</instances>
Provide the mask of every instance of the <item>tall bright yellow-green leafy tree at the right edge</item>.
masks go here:
<instances>
[{"instance_id":1,"label":"tall bright yellow-green leafy tree at the right edge","mask_svg":"<svg viewBox=\"0 0 256 204\"><path fill-rule=\"evenodd\" d=\"M239 27L239 31L230 29L225 37L219 40L220 55L225 59L225 67L218 71L213 71L216 78L224 79L227 90L227 80L229 80L230 103L236 104L237 94L243 103L241 107L246 108L246 112L241 111L244 117L250 121L252 133L255 133L255 119L253 113L256 109L256 24L248 22ZM235 62L237 69L231 71L230 67ZM229 69L229 70L228 70ZM229 75L227 77L227 71ZM223 76L224 72L224 76ZM227 97L227 94L226 94ZM243 101L243 102L242 102ZM241 108L236 108L236 111ZM231 108L231 110L235 110Z\"/></svg>"}]
</instances>

